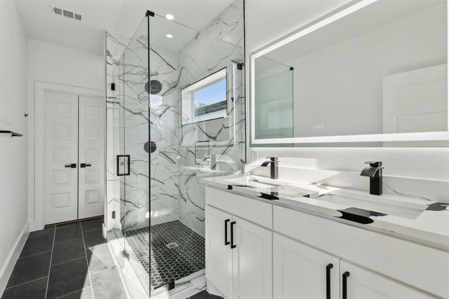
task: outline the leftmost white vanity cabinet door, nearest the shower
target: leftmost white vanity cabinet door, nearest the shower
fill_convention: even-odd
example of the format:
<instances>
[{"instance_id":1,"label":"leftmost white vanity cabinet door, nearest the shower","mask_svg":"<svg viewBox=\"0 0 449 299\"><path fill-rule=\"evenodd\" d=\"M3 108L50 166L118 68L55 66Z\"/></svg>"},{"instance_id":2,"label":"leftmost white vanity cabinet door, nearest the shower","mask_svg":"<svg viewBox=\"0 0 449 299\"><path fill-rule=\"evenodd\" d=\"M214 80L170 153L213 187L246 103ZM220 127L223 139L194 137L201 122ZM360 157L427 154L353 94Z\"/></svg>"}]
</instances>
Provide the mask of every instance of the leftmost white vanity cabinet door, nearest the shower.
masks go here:
<instances>
[{"instance_id":1,"label":"leftmost white vanity cabinet door, nearest the shower","mask_svg":"<svg viewBox=\"0 0 449 299\"><path fill-rule=\"evenodd\" d=\"M231 214L206 205L206 278L226 298L232 298L231 220Z\"/></svg>"}]
</instances>

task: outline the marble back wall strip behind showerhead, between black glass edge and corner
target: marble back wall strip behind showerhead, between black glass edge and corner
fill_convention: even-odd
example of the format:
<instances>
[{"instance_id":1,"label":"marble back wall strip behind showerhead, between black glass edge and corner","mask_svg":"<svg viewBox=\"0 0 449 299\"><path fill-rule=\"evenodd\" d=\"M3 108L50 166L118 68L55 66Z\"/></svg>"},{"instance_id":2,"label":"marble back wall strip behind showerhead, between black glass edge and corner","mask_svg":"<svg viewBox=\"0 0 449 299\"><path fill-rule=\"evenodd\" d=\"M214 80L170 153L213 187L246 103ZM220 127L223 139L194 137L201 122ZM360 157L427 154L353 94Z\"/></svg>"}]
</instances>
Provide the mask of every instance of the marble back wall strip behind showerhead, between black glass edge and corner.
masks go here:
<instances>
[{"instance_id":1,"label":"marble back wall strip behind showerhead, between black glass edge and corner","mask_svg":"<svg viewBox=\"0 0 449 299\"><path fill-rule=\"evenodd\" d=\"M176 52L150 45L150 80L162 89L150 96L151 225L178 219L178 71Z\"/></svg>"}]
</instances>

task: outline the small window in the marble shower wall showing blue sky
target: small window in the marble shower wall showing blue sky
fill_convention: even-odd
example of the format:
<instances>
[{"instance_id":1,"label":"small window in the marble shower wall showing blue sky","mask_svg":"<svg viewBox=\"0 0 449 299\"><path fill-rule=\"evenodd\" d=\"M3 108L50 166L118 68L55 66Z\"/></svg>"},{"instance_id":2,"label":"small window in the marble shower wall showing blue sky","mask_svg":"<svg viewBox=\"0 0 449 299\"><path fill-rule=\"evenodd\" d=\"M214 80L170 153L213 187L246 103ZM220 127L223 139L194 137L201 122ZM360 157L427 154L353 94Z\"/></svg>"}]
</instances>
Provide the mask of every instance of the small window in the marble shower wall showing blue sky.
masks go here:
<instances>
[{"instance_id":1,"label":"small window in the marble shower wall showing blue sky","mask_svg":"<svg viewBox=\"0 0 449 299\"><path fill-rule=\"evenodd\" d=\"M225 117L226 88L224 68L181 89L181 125Z\"/></svg>"}]
</instances>

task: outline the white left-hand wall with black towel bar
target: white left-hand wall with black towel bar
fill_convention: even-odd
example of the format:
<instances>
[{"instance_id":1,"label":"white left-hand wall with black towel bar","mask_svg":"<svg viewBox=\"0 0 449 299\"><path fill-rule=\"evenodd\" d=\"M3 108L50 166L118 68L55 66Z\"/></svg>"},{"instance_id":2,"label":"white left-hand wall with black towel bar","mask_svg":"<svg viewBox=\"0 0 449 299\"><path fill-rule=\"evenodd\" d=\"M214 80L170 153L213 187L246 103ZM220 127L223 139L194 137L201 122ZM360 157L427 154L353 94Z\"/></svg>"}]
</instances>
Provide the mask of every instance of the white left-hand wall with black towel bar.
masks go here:
<instances>
[{"instance_id":1,"label":"white left-hand wall with black towel bar","mask_svg":"<svg viewBox=\"0 0 449 299\"><path fill-rule=\"evenodd\" d=\"M26 36L12 0L0 1L0 296L15 262L12 251L27 232ZM25 231L24 231L25 230ZM19 248L20 250L21 248ZM13 266L13 264L12 264ZM9 266L10 267L10 266ZM3 276L4 274L4 276ZM3 276L3 277L2 277ZM6 277L7 276L7 277Z\"/></svg>"}]
</instances>

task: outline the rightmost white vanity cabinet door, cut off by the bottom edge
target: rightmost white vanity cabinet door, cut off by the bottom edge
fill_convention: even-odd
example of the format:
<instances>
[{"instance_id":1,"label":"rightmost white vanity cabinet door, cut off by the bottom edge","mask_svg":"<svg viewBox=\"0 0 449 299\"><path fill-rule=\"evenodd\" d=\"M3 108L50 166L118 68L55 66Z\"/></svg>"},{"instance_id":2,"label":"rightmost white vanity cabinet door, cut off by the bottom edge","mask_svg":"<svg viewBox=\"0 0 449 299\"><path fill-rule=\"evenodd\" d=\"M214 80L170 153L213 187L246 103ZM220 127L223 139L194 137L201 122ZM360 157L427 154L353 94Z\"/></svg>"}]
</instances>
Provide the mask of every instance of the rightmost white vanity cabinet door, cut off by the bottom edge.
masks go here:
<instances>
[{"instance_id":1,"label":"rightmost white vanity cabinet door, cut off by the bottom edge","mask_svg":"<svg viewBox=\"0 0 449 299\"><path fill-rule=\"evenodd\" d=\"M342 299L435 299L380 274L340 261Z\"/></svg>"}]
</instances>

